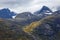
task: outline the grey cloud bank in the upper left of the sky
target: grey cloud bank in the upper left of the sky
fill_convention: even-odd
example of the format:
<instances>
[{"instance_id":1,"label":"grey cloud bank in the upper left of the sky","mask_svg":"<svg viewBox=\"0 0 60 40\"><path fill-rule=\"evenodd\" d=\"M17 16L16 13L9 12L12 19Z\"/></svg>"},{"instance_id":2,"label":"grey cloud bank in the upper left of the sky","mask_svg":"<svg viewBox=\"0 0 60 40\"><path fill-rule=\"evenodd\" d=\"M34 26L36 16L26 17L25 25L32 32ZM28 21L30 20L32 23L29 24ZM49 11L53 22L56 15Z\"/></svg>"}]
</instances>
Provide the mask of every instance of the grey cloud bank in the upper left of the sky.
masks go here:
<instances>
[{"instance_id":1,"label":"grey cloud bank in the upper left of the sky","mask_svg":"<svg viewBox=\"0 0 60 40\"><path fill-rule=\"evenodd\" d=\"M31 0L2 0L0 1L1 6L14 7L14 6L25 6L30 4Z\"/></svg>"}]
</instances>

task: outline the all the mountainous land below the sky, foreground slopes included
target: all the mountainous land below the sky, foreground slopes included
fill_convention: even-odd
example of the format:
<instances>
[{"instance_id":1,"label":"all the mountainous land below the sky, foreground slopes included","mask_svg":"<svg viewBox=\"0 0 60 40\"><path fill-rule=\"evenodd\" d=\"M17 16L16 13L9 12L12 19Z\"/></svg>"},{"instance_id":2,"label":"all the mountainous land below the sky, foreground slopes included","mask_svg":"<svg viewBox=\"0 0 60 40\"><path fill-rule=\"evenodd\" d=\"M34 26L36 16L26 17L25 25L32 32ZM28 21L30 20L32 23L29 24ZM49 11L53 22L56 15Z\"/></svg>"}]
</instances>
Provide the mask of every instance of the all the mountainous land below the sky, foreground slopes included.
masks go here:
<instances>
[{"instance_id":1,"label":"all the mountainous land below the sky, foreground slopes included","mask_svg":"<svg viewBox=\"0 0 60 40\"><path fill-rule=\"evenodd\" d=\"M33 14L16 14L8 8L1 9L0 40L60 40L60 10L53 12L43 6Z\"/></svg>"}]
</instances>

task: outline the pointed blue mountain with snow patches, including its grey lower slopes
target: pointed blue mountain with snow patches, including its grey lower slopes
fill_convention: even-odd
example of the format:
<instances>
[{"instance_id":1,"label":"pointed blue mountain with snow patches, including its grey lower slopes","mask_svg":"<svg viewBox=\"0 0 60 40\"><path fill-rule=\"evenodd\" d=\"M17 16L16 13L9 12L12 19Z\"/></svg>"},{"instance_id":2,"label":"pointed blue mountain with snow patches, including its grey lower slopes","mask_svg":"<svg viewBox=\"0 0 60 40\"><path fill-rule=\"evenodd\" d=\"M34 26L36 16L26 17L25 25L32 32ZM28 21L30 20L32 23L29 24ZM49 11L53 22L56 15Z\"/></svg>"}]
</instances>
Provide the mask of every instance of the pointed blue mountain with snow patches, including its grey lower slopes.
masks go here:
<instances>
[{"instance_id":1,"label":"pointed blue mountain with snow patches, including its grey lower slopes","mask_svg":"<svg viewBox=\"0 0 60 40\"><path fill-rule=\"evenodd\" d=\"M40 17L41 19L52 14L52 10L49 9L47 6L43 6L40 10L34 12L34 15Z\"/></svg>"}]
</instances>

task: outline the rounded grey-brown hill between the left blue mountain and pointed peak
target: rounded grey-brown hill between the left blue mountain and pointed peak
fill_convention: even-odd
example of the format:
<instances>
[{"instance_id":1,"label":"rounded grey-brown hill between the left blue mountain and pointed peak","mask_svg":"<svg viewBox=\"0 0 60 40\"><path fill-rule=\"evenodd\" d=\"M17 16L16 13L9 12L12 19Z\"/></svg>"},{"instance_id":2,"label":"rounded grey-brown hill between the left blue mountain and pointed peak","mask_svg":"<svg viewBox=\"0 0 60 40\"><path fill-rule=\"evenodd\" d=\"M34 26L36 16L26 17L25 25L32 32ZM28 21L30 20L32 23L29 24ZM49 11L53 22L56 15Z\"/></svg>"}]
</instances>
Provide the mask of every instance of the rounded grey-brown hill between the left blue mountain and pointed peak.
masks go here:
<instances>
[{"instance_id":1,"label":"rounded grey-brown hill between the left blue mountain and pointed peak","mask_svg":"<svg viewBox=\"0 0 60 40\"><path fill-rule=\"evenodd\" d=\"M19 24L21 25L27 25L30 24L31 22L38 21L39 19L40 17L33 15L30 12L23 12L15 17L15 21L19 22Z\"/></svg>"}]
</instances>

